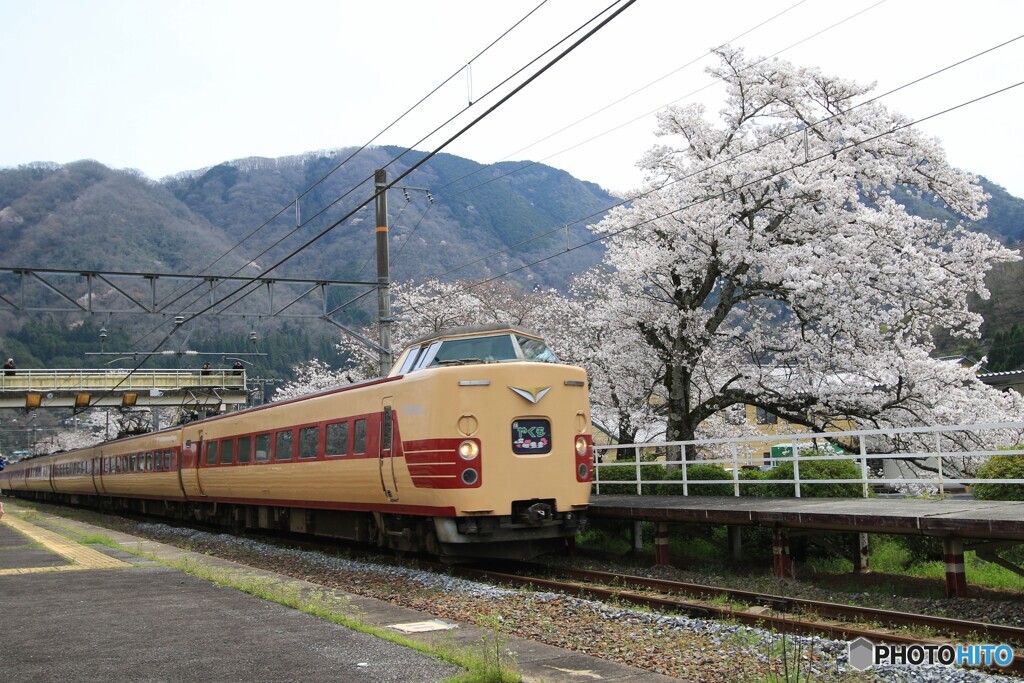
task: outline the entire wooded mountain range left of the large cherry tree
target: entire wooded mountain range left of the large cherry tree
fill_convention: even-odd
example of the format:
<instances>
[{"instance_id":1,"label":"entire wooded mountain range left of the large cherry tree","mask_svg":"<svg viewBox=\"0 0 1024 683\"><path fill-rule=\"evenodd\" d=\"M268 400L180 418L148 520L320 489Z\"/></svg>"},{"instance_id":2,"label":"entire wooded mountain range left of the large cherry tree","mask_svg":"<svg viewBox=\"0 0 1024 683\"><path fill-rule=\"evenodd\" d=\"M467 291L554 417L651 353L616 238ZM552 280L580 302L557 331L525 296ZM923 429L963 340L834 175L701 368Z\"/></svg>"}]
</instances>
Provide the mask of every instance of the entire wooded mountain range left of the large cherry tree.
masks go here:
<instances>
[{"instance_id":1,"label":"entire wooded mountain range left of the large cherry tree","mask_svg":"<svg viewBox=\"0 0 1024 683\"><path fill-rule=\"evenodd\" d=\"M94 161L0 169L0 267L218 275L272 272L304 280L375 281L374 204L348 214L373 197L375 169L401 150L366 150L342 166L352 152L243 159L159 182ZM424 157L406 155L388 167L389 178ZM543 164L485 166L438 155L388 193L392 280L431 275L478 280L560 253L511 278L524 287L565 288L603 253L600 243L566 252L566 244L579 246L593 239L585 223L567 228L566 223L581 217L599 220L615 201L598 185ZM301 249L303 245L311 248ZM269 270L278 263L280 267ZM17 301L17 286L16 276L0 273L0 297ZM38 304L46 295L43 287L38 289L42 294L30 293L30 299L36 297L30 303ZM364 291L353 289L353 296ZM147 299L146 293L133 294ZM284 295L281 298L281 303L288 301ZM352 325L376 312L373 297L365 302L365 309L351 312ZM67 302L57 303L68 307ZM305 302L296 307L302 305ZM45 317L57 330L81 325L81 315L75 313L33 317ZM147 348L155 341L131 342L154 324L138 315L93 316L89 330L109 329L110 346L116 338L124 340L119 348L131 349ZM37 327L28 336L14 334L25 324L26 316L0 299L0 326L10 331L0 337L0 349L16 355L22 367L82 365L81 359L54 355L50 344L32 344L33 336L49 339ZM198 349L248 350L244 343L219 343L244 341L240 332L246 331L245 325L238 319L204 322L188 332L188 344ZM273 343L273 334L284 334L281 321L260 325L264 346ZM337 338L337 331L326 325L307 329L323 338ZM294 331L290 334L294 338ZM309 343L315 346L319 341Z\"/></svg>"}]
</instances>

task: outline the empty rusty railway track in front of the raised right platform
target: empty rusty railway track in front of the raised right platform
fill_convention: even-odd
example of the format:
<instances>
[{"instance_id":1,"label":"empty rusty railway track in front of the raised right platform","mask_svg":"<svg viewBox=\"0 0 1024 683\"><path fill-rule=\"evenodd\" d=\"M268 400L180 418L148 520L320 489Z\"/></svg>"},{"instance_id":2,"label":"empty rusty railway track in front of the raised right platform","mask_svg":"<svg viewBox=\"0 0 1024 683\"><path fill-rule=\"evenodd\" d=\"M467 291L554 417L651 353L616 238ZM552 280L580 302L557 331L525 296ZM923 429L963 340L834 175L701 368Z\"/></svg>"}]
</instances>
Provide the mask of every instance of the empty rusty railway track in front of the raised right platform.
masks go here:
<instances>
[{"instance_id":1,"label":"empty rusty railway track in front of the raised right platform","mask_svg":"<svg viewBox=\"0 0 1024 683\"><path fill-rule=\"evenodd\" d=\"M447 567L454 574L468 579L484 579L499 584L523 586L573 595L581 598L615 601L653 609L684 613L707 618L727 618L781 633L824 636L835 640L867 638L874 642L903 645L939 645L954 642L956 636L973 642L1007 643L1015 646L1013 663L993 671L1024 675L1024 629L983 622L969 622L927 614L897 612L873 607L790 598L735 589L686 584L643 577L631 577L590 569L569 569L520 563L521 571L555 575L540 575L495 571L472 567ZM686 596L684 599L680 596ZM723 599L734 604L719 604ZM874 625L880 625L876 627ZM929 631L940 634L934 638L896 633L896 629ZM959 644L963 641L955 641Z\"/></svg>"}]
</instances>

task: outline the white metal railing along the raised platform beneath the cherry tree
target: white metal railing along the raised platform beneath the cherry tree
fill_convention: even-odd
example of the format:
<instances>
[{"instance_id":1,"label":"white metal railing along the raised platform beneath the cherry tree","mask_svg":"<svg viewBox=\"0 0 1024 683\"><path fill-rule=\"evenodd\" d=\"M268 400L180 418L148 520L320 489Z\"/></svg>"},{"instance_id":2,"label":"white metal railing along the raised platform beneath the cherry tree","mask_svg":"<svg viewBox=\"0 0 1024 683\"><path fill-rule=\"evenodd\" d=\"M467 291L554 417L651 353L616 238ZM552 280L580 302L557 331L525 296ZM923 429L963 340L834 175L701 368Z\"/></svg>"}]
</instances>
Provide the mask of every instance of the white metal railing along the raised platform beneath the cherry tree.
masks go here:
<instances>
[{"instance_id":1,"label":"white metal railing along the raised platform beneath the cherry tree","mask_svg":"<svg viewBox=\"0 0 1024 683\"><path fill-rule=\"evenodd\" d=\"M764 444L780 444L787 446L791 455L764 458L754 455L753 450ZM817 455L819 450L813 450L815 455L801 456L801 451L808 451L824 444L840 444L845 453L834 455ZM977 483L1015 483L1024 484L1024 479L981 479L973 476L977 467L994 455L1024 455L1024 422L1002 422L976 425L951 425L933 427L912 427L904 429L858 429L835 432L802 432L794 434L759 434L739 438L703 439L691 441L651 441L646 443L616 443L613 445L594 446L597 456L594 466L595 493L601 493L604 484L636 485L637 495L641 495L643 486L665 484L681 486L682 495L688 496L690 486L697 486L694 495L699 495L699 486L727 483L724 479L690 480L687 477L687 467L684 465L716 465L731 470L733 496L740 495L740 487L751 484L794 484L795 495L801 497L801 484L826 483L859 483L864 498L876 485L898 486L900 484L935 485L940 495L945 495L947 486L967 486ZM609 461L602 457L609 452L633 451L629 460ZM657 460L644 460L653 454ZM711 457L705 457L712 454ZM672 459L671 456L675 456ZM687 458L698 455L699 458ZM663 459L664 458L664 459ZM740 471L752 462L793 463L792 479L743 479ZM852 461L859 466L860 477L851 479L807 479L801 478L800 464L811 461ZM868 461L894 461L916 463L908 467L915 476L882 476L869 475ZM602 462L604 461L604 462ZM678 467L680 479L644 480L645 465L665 465ZM601 481L601 471L609 468L633 468L635 476L626 480ZM918 476L928 474L934 469L934 476ZM885 468L883 468L885 469Z\"/></svg>"}]
</instances>

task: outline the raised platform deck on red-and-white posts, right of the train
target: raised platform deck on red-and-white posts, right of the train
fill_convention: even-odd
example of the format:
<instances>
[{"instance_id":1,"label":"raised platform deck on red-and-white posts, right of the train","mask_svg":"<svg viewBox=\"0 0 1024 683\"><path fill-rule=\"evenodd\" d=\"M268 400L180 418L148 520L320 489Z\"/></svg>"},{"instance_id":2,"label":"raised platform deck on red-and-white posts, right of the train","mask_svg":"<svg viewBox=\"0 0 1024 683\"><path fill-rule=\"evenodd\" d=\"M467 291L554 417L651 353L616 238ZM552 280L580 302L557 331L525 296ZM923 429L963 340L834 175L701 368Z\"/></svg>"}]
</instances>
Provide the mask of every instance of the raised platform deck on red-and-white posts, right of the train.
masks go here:
<instances>
[{"instance_id":1,"label":"raised platform deck on red-and-white posts, right of the train","mask_svg":"<svg viewBox=\"0 0 1024 683\"><path fill-rule=\"evenodd\" d=\"M738 529L771 529L775 574L793 578L788 535L848 531L857 535L851 559L854 570L867 568L867 535L897 533L941 539L946 594L967 597L965 542L984 559L1008 566L990 554L995 548L1024 543L1024 502L882 498L754 498L732 496L593 496L592 519L654 523L655 562L669 564L669 524L711 524L729 528L733 556L739 555ZM980 554L980 553L979 553ZM1020 573L1020 567L1008 566Z\"/></svg>"}]
</instances>

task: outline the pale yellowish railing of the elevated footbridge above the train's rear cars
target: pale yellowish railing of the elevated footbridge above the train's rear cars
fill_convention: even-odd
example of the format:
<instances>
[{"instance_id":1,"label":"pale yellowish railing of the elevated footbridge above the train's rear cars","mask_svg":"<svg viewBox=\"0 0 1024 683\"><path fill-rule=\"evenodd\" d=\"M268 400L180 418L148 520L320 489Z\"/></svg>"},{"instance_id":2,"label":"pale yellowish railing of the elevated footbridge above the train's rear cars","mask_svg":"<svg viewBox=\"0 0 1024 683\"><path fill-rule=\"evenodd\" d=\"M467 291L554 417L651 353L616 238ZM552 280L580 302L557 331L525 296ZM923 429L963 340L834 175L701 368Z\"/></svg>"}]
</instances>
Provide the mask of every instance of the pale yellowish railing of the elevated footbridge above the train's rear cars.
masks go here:
<instances>
[{"instance_id":1,"label":"pale yellowish railing of the elevated footbridge above the train's rear cars","mask_svg":"<svg viewBox=\"0 0 1024 683\"><path fill-rule=\"evenodd\" d=\"M9 372L9 371L8 371ZM172 390L191 387L244 389L244 371L211 370L16 370L0 372L2 391Z\"/></svg>"}]
</instances>

